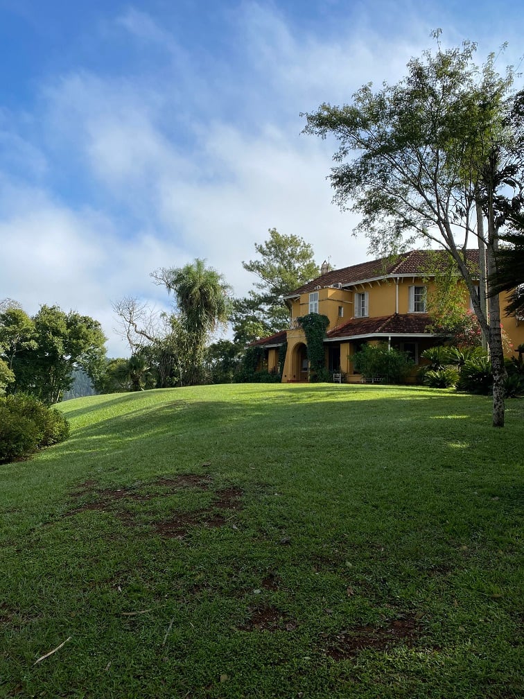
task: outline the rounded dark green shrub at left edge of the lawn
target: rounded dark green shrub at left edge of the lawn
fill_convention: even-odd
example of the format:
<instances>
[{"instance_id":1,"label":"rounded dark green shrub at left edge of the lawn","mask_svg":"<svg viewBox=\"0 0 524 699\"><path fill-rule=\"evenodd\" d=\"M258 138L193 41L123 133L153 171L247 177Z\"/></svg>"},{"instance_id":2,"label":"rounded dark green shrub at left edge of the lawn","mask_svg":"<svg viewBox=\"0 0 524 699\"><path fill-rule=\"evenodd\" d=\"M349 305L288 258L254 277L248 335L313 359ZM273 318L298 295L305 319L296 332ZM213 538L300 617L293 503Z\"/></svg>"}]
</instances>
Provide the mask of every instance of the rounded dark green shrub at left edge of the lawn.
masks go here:
<instances>
[{"instance_id":1,"label":"rounded dark green shrub at left edge of the lawn","mask_svg":"<svg viewBox=\"0 0 524 699\"><path fill-rule=\"evenodd\" d=\"M0 398L0 462L27 458L68 436L68 421L57 408L28 394Z\"/></svg>"}]
</instances>

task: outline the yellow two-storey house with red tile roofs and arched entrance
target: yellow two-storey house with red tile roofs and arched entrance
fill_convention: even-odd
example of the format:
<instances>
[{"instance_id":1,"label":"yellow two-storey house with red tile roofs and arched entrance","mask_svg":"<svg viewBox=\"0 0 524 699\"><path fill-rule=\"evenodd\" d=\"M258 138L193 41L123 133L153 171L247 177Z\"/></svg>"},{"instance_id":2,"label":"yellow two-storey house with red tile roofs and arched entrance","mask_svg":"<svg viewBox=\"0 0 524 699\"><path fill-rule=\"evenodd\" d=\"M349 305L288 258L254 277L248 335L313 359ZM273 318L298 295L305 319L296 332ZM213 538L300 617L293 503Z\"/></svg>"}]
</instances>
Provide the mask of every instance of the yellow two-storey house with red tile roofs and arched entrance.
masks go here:
<instances>
[{"instance_id":1,"label":"yellow two-storey house with red tile roofs and arched entrance","mask_svg":"<svg viewBox=\"0 0 524 699\"><path fill-rule=\"evenodd\" d=\"M309 313L328 317L324 339L325 366L346 382L361 382L353 356L364 343L387 343L407 352L416 365L421 353L442 343L432 333L427 299L435 289L435 264L444 252L414 250L392 259L379 259L323 272L284 298L290 310L290 327L258 340L265 350L265 368L277 370L279 349L287 343L282 382L309 379L305 333L297 319ZM470 268L479 268L478 250L467 251ZM504 298L501 298L504 308ZM514 347L524 343L524 318L503 318L504 330Z\"/></svg>"}]
</instances>

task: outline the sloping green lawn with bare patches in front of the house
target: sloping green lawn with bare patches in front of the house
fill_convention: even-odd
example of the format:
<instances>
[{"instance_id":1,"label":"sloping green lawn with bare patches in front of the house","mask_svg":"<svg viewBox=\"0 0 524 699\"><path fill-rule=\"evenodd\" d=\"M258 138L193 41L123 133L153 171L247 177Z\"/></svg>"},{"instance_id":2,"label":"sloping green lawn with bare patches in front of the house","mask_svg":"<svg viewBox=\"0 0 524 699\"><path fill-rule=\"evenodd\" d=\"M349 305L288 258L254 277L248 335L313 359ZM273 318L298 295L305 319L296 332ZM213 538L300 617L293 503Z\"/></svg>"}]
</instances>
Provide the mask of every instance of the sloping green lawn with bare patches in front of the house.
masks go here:
<instances>
[{"instance_id":1,"label":"sloping green lawn with bare patches in front of the house","mask_svg":"<svg viewBox=\"0 0 524 699\"><path fill-rule=\"evenodd\" d=\"M0 466L1 697L521 696L524 401L502 430L421 387L61 408L70 439Z\"/></svg>"}]
</instances>

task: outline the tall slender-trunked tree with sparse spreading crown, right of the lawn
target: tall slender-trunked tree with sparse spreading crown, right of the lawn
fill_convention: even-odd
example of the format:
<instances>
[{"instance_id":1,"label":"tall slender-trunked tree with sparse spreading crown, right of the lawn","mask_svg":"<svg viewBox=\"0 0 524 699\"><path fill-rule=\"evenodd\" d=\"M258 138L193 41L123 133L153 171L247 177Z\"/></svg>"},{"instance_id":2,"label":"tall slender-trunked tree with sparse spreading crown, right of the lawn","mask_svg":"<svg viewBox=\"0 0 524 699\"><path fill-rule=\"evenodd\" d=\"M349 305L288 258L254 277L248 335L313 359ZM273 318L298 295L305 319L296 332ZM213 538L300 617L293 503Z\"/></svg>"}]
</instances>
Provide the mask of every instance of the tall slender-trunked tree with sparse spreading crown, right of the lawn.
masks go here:
<instances>
[{"instance_id":1,"label":"tall slender-trunked tree with sparse spreading crown, right of the lawn","mask_svg":"<svg viewBox=\"0 0 524 699\"><path fill-rule=\"evenodd\" d=\"M330 180L335 201L363 215L357 231L370 251L386 254L417 239L443 247L456 262L470 291L474 311L488 337L493 365L493 425L504 425L504 356L498 299L488 318L467 265L468 240L476 236L476 206L488 220L481 245L488 272L493 268L504 207L517 206L521 178L518 122L511 111L513 71L502 78L495 57L479 69L476 46L423 53L407 64L397 85L373 92L364 85L351 105L322 104L306 114L305 132L340 142ZM513 180L507 175L512 172ZM510 194L504 187L510 187ZM512 192L512 194L511 194ZM504 196L505 195L505 196Z\"/></svg>"}]
</instances>

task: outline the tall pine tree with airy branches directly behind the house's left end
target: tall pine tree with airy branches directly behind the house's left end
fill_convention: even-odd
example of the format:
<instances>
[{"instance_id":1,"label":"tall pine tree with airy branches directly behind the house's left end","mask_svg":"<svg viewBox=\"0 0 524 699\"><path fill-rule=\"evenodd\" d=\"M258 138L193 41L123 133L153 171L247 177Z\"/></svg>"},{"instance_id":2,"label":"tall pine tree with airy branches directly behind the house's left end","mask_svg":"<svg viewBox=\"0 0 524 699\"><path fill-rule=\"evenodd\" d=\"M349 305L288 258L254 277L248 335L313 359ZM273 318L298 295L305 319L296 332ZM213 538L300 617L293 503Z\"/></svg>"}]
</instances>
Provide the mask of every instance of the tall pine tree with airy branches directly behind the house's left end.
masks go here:
<instances>
[{"instance_id":1,"label":"tall pine tree with airy branches directly behind the house's left end","mask_svg":"<svg viewBox=\"0 0 524 699\"><path fill-rule=\"evenodd\" d=\"M231 322L235 340L246 344L286 327L289 310L283 296L291 294L319 274L313 248L300 236L286 236L269 229L269 238L255 243L259 259L242 262L259 281L245 298L235 299Z\"/></svg>"}]
</instances>

